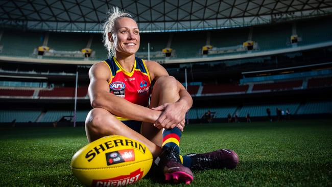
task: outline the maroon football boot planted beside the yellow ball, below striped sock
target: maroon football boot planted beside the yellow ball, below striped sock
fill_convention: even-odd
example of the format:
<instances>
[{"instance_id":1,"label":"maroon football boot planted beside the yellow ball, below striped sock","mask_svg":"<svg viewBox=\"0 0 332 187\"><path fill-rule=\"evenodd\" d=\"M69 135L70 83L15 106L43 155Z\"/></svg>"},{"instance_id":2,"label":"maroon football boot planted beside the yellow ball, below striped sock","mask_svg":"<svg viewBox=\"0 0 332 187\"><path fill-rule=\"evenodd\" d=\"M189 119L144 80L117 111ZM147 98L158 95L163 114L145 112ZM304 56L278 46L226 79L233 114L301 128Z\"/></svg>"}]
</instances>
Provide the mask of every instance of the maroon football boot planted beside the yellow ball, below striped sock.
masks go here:
<instances>
[{"instance_id":1,"label":"maroon football boot planted beside the yellow ball, below striped sock","mask_svg":"<svg viewBox=\"0 0 332 187\"><path fill-rule=\"evenodd\" d=\"M167 147L156 158L155 164L162 171L165 180L173 180L174 183L184 182L190 184L194 180L193 172L181 164L179 154L174 148Z\"/></svg>"}]
</instances>

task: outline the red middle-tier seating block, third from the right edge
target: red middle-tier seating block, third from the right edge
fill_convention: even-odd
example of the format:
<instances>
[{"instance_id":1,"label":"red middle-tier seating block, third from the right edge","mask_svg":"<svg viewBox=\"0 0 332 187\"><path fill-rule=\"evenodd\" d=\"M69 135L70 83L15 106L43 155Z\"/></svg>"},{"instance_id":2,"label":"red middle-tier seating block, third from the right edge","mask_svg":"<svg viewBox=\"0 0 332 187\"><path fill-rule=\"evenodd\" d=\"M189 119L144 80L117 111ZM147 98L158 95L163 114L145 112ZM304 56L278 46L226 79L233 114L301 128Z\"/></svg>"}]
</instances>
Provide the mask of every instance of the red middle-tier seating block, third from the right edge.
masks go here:
<instances>
[{"instance_id":1,"label":"red middle-tier seating block, third from the right edge","mask_svg":"<svg viewBox=\"0 0 332 187\"><path fill-rule=\"evenodd\" d=\"M207 84L204 85L202 94L211 93L228 93L228 92L241 92L245 93L248 90L248 85L233 85L233 84Z\"/></svg>"}]
</instances>

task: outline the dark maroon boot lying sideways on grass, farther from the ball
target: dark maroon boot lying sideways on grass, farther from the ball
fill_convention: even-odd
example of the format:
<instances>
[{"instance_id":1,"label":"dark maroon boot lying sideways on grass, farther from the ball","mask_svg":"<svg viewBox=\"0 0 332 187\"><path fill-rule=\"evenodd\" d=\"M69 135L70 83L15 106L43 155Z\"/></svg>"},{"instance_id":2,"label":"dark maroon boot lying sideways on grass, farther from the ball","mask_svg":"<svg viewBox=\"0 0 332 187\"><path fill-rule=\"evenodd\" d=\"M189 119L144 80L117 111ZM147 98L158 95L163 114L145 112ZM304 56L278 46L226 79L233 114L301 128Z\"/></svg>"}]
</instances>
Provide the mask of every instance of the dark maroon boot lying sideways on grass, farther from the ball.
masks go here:
<instances>
[{"instance_id":1,"label":"dark maroon boot lying sideways on grass, farther from the ball","mask_svg":"<svg viewBox=\"0 0 332 187\"><path fill-rule=\"evenodd\" d=\"M203 154L187 154L192 159L192 170L234 169L239 163L239 156L232 150L220 149Z\"/></svg>"}]
</instances>

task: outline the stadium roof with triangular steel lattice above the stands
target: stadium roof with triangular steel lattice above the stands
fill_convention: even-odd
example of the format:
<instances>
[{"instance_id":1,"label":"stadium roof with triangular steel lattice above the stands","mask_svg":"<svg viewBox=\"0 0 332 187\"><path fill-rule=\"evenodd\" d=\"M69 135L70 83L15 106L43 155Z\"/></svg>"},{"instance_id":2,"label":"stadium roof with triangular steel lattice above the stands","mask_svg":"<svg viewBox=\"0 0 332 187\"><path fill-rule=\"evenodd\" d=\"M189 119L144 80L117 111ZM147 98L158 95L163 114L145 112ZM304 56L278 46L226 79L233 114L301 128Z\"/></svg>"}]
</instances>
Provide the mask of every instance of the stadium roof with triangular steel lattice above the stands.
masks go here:
<instances>
[{"instance_id":1,"label":"stadium roof with triangular steel lattice above the stands","mask_svg":"<svg viewBox=\"0 0 332 187\"><path fill-rule=\"evenodd\" d=\"M246 27L332 14L331 0L1 0L0 26L101 32L113 6L130 13L141 32Z\"/></svg>"}]
</instances>

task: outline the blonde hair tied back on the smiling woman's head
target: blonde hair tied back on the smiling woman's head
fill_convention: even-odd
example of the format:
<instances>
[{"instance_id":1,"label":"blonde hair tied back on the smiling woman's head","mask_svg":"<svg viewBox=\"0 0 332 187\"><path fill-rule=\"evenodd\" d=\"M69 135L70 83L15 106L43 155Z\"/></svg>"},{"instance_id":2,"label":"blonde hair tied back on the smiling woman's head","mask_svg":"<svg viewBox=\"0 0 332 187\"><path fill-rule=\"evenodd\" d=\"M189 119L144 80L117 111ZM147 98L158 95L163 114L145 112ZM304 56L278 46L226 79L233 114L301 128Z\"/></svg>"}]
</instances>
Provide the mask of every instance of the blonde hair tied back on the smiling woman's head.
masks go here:
<instances>
[{"instance_id":1,"label":"blonde hair tied back on the smiling woman's head","mask_svg":"<svg viewBox=\"0 0 332 187\"><path fill-rule=\"evenodd\" d=\"M111 42L108 38L108 33L111 33L113 38L115 39L116 35L114 34L114 23L118 18L122 17L129 17L132 18L132 16L128 13L125 13L123 10L120 10L118 7L113 7L112 12L107 13L108 19L106 19L106 22L104 24L104 32L103 32L103 41L104 46L108 51L108 58L115 55L115 47L114 43ZM114 35L113 35L114 34Z\"/></svg>"}]
</instances>

